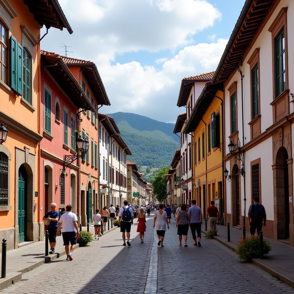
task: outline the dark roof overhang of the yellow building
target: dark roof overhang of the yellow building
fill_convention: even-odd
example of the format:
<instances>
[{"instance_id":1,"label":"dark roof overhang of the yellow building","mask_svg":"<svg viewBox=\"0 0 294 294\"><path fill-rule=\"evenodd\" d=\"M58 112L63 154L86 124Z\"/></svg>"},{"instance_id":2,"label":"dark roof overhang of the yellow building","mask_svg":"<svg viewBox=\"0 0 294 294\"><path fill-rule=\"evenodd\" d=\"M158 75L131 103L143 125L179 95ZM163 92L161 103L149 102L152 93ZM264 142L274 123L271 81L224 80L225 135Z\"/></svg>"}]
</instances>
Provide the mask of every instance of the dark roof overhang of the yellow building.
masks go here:
<instances>
[{"instance_id":1,"label":"dark roof overhang of the yellow building","mask_svg":"<svg viewBox=\"0 0 294 294\"><path fill-rule=\"evenodd\" d=\"M199 98L197 99L190 118L188 119L186 126L183 129L183 133L191 133L196 130L199 125L201 118L206 113L208 107L211 105L211 102L215 98L217 91L223 91L223 83L218 84L209 84L203 88Z\"/></svg>"}]
</instances>

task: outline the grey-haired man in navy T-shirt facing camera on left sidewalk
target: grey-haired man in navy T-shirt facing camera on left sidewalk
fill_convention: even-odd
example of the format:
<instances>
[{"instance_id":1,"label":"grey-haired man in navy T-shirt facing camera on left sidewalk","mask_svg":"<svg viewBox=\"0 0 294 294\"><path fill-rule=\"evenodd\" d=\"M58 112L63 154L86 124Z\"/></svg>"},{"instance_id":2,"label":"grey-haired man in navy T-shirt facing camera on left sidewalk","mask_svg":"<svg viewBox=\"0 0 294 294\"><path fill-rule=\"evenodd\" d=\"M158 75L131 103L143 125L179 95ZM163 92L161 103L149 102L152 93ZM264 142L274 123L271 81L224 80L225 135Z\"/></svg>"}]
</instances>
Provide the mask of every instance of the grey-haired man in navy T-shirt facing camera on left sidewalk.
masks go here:
<instances>
[{"instance_id":1,"label":"grey-haired man in navy T-shirt facing camera on left sidewalk","mask_svg":"<svg viewBox=\"0 0 294 294\"><path fill-rule=\"evenodd\" d=\"M51 251L49 254L55 253L55 246L56 246L56 232L59 220L59 211L56 210L56 203L50 204L51 211L48 211L45 215L43 220L45 221L45 225L47 225L47 230L49 232L49 243Z\"/></svg>"}]
</instances>

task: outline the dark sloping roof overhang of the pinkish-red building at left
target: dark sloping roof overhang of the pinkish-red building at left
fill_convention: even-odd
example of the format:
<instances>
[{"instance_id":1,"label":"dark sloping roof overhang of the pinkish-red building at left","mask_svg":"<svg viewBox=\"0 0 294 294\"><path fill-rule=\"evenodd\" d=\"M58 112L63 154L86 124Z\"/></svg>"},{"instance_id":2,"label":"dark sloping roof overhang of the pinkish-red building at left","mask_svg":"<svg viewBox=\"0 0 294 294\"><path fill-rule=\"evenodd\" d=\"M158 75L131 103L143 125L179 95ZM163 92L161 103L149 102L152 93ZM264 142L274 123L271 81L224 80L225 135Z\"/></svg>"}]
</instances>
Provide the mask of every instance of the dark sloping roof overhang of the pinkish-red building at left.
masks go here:
<instances>
[{"instance_id":1,"label":"dark sloping roof overhang of the pinkish-red building at left","mask_svg":"<svg viewBox=\"0 0 294 294\"><path fill-rule=\"evenodd\" d=\"M76 78L59 57L41 53L41 70L46 69L77 108L95 111Z\"/></svg>"}]
</instances>

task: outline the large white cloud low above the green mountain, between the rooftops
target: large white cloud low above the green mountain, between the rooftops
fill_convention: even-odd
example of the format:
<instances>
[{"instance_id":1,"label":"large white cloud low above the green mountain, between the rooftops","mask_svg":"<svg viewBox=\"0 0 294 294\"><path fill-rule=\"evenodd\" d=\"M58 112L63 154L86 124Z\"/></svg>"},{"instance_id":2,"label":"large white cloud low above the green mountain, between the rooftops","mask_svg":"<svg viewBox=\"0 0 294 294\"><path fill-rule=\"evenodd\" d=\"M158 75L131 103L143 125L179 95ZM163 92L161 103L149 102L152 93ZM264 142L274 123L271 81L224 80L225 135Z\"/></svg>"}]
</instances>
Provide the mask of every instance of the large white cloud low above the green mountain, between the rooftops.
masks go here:
<instances>
[{"instance_id":1,"label":"large white cloud low above the green mountain, between the rooftops","mask_svg":"<svg viewBox=\"0 0 294 294\"><path fill-rule=\"evenodd\" d=\"M157 120L174 122L181 110L176 106L181 80L186 76L213 71L228 40L186 46L166 60L160 70L138 62L103 64L98 70L110 98L105 113L135 112Z\"/></svg>"}]
</instances>

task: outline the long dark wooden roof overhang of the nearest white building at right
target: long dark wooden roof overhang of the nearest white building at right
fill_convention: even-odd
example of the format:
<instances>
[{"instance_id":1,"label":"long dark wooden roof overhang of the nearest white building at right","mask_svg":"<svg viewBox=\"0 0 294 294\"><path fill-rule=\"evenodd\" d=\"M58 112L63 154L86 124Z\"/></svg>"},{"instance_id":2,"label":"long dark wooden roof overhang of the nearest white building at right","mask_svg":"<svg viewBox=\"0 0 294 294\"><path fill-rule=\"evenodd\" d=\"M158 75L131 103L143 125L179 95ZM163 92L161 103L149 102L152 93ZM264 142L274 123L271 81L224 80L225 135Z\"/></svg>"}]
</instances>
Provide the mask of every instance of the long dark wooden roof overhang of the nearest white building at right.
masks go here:
<instances>
[{"instance_id":1,"label":"long dark wooden roof overhang of the nearest white building at right","mask_svg":"<svg viewBox=\"0 0 294 294\"><path fill-rule=\"evenodd\" d=\"M220 59L212 82L219 83L242 65L243 56L260 29L268 13L275 9L280 0L246 0L228 44Z\"/></svg>"}]
</instances>

